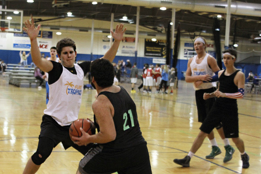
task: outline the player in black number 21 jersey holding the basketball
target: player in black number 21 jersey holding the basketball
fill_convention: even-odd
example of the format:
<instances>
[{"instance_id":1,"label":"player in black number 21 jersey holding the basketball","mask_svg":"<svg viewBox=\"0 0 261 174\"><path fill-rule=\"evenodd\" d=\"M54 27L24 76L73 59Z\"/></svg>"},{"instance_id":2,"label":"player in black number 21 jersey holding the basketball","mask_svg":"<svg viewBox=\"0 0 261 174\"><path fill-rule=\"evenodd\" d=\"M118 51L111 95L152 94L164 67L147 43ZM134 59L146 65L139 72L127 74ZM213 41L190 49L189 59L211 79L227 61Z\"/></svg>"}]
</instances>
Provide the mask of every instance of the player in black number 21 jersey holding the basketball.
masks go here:
<instances>
[{"instance_id":1,"label":"player in black number 21 jersey holding the basketball","mask_svg":"<svg viewBox=\"0 0 261 174\"><path fill-rule=\"evenodd\" d=\"M123 87L113 85L114 68L105 59L90 66L98 96L92 108L98 133L73 137L79 146L93 144L77 174L152 174L147 143L140 131L136 105Z\"/></svg>"}]
</instances>

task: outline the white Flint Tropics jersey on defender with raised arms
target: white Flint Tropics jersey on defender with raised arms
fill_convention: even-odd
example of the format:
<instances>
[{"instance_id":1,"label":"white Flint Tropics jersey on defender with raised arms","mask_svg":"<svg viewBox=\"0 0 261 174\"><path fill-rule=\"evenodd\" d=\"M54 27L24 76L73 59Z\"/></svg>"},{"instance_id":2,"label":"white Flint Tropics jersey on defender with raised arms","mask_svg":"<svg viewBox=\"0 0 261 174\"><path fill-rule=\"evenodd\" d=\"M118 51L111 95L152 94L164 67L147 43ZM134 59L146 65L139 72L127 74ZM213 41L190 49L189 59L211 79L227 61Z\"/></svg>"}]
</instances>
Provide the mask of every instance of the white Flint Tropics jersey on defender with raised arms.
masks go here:
<instances>
[{"instance_id":1,"label":"white Flint Tropics jersey on defender with raised arms","mask_svg":"<svg viewBox=\"0 0 261 174\"><path fill-rule=\"evenodd\" d=\"M64 68L61 77L49 85L49 102L44 114L52 116L61 126L70 125L78 119L81 95L84 85L84 72L74 64L77 75Z\"/></svg>"}]
</instances>

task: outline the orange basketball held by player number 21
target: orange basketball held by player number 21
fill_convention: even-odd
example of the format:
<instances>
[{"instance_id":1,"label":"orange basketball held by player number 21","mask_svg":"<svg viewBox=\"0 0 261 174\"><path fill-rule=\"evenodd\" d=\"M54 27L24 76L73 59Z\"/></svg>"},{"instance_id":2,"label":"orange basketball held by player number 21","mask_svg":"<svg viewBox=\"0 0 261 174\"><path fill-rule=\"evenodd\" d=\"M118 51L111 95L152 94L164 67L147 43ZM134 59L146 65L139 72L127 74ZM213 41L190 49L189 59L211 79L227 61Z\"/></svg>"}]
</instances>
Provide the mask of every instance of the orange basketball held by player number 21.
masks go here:
<instances>
[{"instance_id":1,"label":"orange basketball held by player number 21","mask_svg":"<svg viewBox=\"0 0 261 174\"><path fill-rule=\"evenodd\" d=\"M87 132L89 135L95 134L95 125L93 121L90 119L77 119L75 120L69 129L69 135L72 139L72 136L75 137L81 137L82 133L80 131L80 128L82 128L85 132Z\"/></svg>"}]
</instances>

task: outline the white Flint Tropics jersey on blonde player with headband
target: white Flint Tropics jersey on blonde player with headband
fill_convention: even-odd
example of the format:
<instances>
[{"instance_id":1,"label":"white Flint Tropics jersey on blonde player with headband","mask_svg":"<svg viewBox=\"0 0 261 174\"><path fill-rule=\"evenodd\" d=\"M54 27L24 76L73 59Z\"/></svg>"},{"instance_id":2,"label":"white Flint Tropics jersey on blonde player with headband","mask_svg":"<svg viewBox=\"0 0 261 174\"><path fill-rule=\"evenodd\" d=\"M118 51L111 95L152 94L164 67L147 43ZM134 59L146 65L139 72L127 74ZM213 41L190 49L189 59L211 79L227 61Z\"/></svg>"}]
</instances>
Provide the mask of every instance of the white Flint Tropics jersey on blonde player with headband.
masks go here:
<instances>
[{"instance_id":1,"label":"white Flint Tropics jersey on blonde player with headband","mask_svg":"<svg viewBox=\"0 0 261 174\"><path fill-rule=\"evenodd\" d=\"M202 62L200 64L196 63L196 57L197 57L197 55L195 55L193 57L191 64L190 64L190 68L191 68L191 72L192 72L191 76L198 76L198 75L205 75L205 74L214 76L215 73L213 73L212 69L209 68L209 65L207 62L209 54L206 54L206 56L204 57L204 59L202 60ZM195 84L193 83L193 88L195 90L209 89L209 88L216 87L216 86L217 86L216 82L211 82L211 83L203 83L196 88Z\"/></svg>"}]
</instances>

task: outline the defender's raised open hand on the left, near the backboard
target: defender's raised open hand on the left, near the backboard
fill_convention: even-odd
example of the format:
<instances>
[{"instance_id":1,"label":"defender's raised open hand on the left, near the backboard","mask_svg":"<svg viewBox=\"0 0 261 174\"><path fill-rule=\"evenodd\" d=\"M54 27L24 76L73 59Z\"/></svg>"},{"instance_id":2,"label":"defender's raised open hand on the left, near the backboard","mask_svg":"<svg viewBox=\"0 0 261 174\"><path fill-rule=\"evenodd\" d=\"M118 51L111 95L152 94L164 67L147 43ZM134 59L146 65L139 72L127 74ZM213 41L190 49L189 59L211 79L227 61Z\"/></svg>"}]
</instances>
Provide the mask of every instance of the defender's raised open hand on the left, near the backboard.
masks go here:
<instances>
[{"instance_id":1,"label":"defender's raised open hand on the left, near the backboard","mask_svg":"<svg viewBox=\"0 0 261 174\"><path fill-rule=\"evenodd\" d=\"M23 27L23 30L28 34L30 40L32 41L32 40L36 39L39 34L41 24L39 24L37 26L37 28L35 28L35 22L31 16L31 21L27 19L24 22L24 25L25 25L25 27Z\"/></svg>"}]
</instances>

